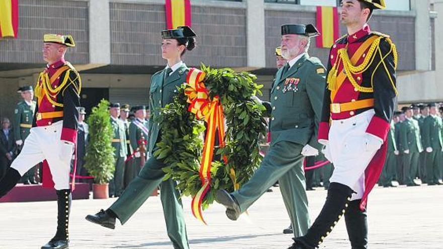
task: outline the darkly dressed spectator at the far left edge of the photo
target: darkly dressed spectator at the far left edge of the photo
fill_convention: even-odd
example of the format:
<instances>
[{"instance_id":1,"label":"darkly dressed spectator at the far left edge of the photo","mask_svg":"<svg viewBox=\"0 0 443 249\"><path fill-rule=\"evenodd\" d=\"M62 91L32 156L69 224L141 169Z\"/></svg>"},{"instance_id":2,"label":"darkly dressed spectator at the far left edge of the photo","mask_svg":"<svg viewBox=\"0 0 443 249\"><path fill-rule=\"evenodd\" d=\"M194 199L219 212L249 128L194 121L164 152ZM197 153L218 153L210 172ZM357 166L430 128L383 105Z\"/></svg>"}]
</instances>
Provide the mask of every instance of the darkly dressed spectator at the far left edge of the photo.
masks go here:
<instances>
[{"instance_id":1,"label":"darkly dressed spectator at the far left edge of the photo","mask_svg":"<svg viewBox=\"0 0 443 249\"><path fill-rule=\"evenodd\" d=\"M6 170L14 159L16 143L11 122L8 118L2 119L2 131L0 132L0 180L5 176Z\"/></svg>"}]
</instances>

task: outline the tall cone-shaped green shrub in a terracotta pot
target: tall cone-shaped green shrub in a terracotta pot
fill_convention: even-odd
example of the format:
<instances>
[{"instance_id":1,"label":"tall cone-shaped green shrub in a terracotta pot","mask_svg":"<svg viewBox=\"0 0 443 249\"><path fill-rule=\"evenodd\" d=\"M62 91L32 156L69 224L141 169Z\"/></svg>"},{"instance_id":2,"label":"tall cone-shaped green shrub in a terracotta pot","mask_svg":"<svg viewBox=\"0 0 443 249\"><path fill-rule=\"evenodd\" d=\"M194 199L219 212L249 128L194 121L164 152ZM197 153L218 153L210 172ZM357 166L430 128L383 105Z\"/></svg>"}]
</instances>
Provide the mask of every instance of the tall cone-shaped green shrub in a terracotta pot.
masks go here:
<instances>
[{"instance_id":1,"label":"tall cone-shaped green shrub in a terracotta pot","mask_svg":"<svg viewBox=\"0 0 443 249\"><path fill-rule=\"evenodd\" d=\"M109 197L108 183L114 176L115 159L112 147L113 130L108 112L109 102L102 100L88 118L89 143L84 167L94 176L94 199Z\"/></svg>"}]
</instances>

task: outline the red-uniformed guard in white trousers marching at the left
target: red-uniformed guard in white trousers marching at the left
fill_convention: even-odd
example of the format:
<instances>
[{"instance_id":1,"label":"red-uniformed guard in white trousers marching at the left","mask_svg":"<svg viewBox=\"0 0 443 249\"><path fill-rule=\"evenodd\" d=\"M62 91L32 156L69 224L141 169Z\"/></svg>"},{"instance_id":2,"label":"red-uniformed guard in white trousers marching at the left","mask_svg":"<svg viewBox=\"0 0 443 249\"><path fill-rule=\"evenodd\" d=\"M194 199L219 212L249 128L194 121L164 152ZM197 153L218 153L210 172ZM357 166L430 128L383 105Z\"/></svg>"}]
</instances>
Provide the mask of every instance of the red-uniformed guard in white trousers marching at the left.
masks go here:
<instances>
[{"instance_id":1,"label":"red-uniformed guard in white trousers marching at the left","mask_svg":"<svg viewBox=\"0 0 443 249\"><path fill-rule=\"evenodd\" d=\"M69 172L77 142L81 80L79 73L64 60L67 47L75 43L70 35L44 35L43 58L48 63L40 73L35 95L37 106L30 135L6 177L0 182L0 198L21 176L44 161L43 185L57 193L57 232L42 249L68 248L68 222L71 203Z\"/></svg>"}]
</instances>

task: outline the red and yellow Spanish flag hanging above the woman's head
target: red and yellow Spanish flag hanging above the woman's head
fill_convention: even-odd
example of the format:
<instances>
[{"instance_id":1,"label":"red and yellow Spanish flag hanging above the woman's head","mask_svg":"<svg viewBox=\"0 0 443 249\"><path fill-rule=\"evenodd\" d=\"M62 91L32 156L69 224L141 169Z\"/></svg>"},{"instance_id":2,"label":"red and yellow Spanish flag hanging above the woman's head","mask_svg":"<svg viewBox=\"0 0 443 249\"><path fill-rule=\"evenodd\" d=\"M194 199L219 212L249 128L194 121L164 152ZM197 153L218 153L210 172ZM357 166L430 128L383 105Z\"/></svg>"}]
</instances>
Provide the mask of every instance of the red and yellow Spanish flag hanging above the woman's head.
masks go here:
<instances>
[{"instance_id":1,"label":"red and yellow Spanish flag hanging above the woman's head","mask_svg":"<svg viewBox=\"0 0 443 249\"><path fill-rule=\"evenodd\" d=\"M176 29L178 26L191 26L190 0L165 0L166 26Z\"/></svg>"}]
</instances>

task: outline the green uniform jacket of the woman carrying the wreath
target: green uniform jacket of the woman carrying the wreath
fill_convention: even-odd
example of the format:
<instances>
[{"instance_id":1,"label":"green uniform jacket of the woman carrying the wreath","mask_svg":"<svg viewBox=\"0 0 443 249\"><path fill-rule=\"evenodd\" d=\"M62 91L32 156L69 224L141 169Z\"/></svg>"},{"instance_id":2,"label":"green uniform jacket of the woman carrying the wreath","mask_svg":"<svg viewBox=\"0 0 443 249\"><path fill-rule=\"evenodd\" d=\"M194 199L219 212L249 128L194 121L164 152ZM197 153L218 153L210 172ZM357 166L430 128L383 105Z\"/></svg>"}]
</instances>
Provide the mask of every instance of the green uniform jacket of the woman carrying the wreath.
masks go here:
<instances>
[{"instance_id":1,"label":"green uniform jacket of the woman carrying the wreath","mask_svg":"<svg viewBox=\"0 0 443 249\"><path fill-rule=\"evenodd\" d=\"M151 89L149 95L149 109L151 111L151 122L149 122L149 152L152 153L155 150L156 143L160 140L160 128L156 117L160 113L160 108L165 107L171 103L173 97L177 95L177 87L186 82L186 75L189 68L182 64L177 70L166 78L166 82L163 82L166 68L156 72L151 77Z\"/></svg>"}]
</instances>

